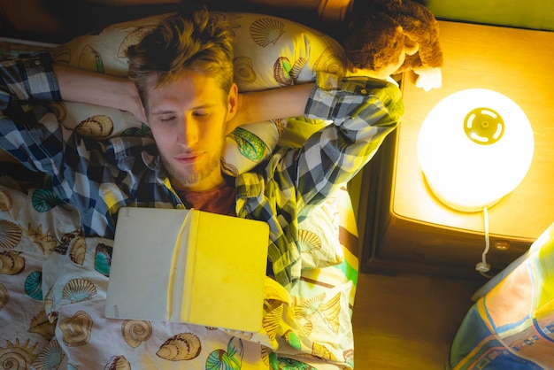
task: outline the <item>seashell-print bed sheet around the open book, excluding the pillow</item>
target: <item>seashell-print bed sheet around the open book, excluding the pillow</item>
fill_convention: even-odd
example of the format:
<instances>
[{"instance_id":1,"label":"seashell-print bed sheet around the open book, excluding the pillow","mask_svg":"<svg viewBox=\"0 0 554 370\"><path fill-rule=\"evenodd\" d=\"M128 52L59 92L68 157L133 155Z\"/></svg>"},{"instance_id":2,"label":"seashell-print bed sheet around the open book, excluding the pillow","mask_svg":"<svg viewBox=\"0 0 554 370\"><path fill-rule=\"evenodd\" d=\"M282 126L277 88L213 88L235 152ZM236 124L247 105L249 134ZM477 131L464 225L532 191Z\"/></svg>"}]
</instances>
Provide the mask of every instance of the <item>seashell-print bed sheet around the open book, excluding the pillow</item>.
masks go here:
<instances>
[{"instance_id":1,"label":"seashell-print bed sheet around the open book, excluding the pillow","mask_svg":"<svg viewBox=\"0 0 554 370\"><path fill-rule=\"evenodd\" d=\"M9 168L11 166L1 166ZM48 189L0 177L0 364L4 368L350 368L357 229L345 188L327 208L342 262L304 268L286 291L267 278L263 329L234 332L104 317L112 240L85 238ZM35 180L35 179L33 179ZM23 186L22 186L23 184Z\"/></svg>"}]
</instances>

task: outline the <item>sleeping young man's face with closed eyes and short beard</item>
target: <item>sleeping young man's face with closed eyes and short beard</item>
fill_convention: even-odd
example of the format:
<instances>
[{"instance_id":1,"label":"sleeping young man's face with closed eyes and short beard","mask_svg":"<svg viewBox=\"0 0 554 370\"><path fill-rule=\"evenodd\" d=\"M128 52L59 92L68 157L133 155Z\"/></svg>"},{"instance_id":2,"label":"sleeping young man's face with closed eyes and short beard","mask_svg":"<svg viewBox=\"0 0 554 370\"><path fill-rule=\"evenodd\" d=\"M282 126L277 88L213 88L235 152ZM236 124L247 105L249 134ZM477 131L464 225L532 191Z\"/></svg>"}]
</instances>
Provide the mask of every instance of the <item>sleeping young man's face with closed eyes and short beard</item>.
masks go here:
<instances>
[{"instance_id":1,"label":"sleeping young man's face with closed eyes and short beard","mask_svg":"<svg viewBox=\"0 0 554 370\"><path fill-rule=\"evenodd\" d=\"M185 71L164 87L148 89L148 121L173 186L204 191L223 183L220 157L238 92L213 77Z\"/></svg>"}]
</instances>

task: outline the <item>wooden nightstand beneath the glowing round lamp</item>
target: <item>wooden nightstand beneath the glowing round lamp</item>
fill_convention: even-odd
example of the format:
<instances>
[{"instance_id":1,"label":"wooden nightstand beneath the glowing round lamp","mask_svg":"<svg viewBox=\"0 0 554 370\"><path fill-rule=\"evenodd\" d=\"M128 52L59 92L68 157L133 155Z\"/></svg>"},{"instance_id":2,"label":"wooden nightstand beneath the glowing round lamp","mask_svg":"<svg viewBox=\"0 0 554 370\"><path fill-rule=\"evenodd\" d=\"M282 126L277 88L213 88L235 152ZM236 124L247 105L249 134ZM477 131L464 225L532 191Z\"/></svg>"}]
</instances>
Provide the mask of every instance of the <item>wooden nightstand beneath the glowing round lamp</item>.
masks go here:
<instances>
[{"instance_id":1,"label":"wooden nightstand beneath the glowing round lamp","mask_svg":"<svg viewBox=\"0 0 554 370\"><path fill-rule=\"evenodd\" d=\"M440 27L442 88L425 92L415 87L412 74L404 76L404 119L363 174L358 210L363 271L479 274L474 267L485 248L482 212L458 212L438 201L416 152L427 113L461 89L492 89L510 97L526 112L535 136L526 178L489 209L491 274L526 251L554 221L554 33L448 21Z\"/></svg>"}]
</instances>

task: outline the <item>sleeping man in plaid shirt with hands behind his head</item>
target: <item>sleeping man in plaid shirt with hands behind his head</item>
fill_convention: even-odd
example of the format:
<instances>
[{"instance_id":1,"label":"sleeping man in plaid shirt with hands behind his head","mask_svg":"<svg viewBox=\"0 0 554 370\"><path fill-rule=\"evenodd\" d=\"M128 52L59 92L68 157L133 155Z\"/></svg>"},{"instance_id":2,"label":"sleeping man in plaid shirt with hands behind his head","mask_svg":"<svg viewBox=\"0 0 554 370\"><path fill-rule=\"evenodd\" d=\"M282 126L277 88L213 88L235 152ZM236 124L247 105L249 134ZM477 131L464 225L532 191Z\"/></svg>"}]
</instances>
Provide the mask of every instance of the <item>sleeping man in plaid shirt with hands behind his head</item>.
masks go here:
<instances>
[{"instance_id":1,"label":"sleeping man in plaid shirt with hands behind his head","mask_svg":"<svg viewBox=\"0 0 554 370\"><path fill-rule=\"evenodd\" d=\"M79 210L86 236L112 238L123 206L263 220L271 230L268 274L290 288L300 275L298 212L323 202L372 158L404 112L400 90L319 73L315 84L241 94L232 40L227 25L202 8L164 19L129 48L129 80L53 65L48 53L3 60L0 147L50 175L58 197ZM76 135L48 108L63 99L134 112L155 143ZM235 127L302 115L333 124L248 173L221 172L224 138Z\"/></svg>"}]
</instances>

